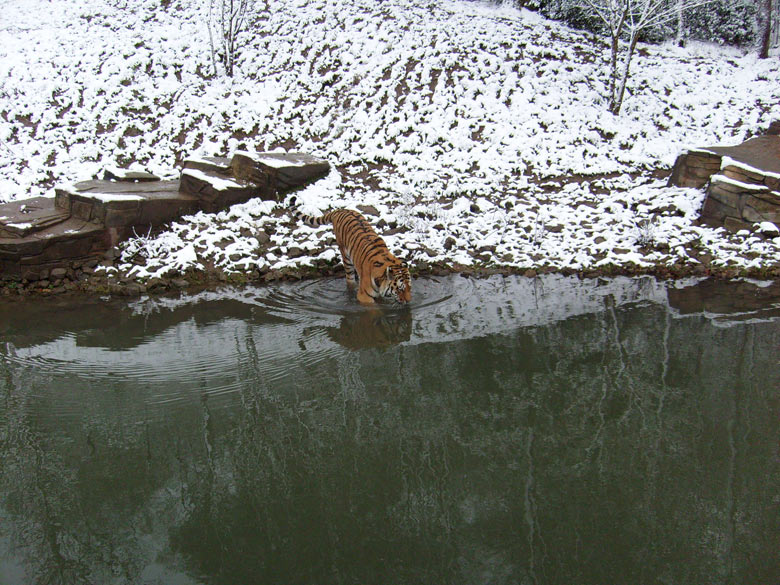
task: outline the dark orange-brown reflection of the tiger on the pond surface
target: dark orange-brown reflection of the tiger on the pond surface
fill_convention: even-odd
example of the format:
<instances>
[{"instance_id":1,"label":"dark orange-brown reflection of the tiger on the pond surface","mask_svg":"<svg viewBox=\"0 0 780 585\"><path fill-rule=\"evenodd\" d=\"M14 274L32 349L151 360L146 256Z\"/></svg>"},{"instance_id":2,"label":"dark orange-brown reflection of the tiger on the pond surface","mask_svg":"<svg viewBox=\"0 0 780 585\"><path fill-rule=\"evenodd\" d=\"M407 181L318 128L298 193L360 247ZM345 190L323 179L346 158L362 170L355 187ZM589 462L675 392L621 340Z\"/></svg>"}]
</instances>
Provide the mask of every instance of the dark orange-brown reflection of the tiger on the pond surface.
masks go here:
<instances>
[{"instance_id":1,"label":"dark orange-brown reflection of the tiger on the pond surface","mask_svg":"<svg viewBox=\"0 0 780 585\"><path fill-rule=\"evenodd\" d=\"M313 330L324 330L331 341L347 349L387 348L411 339L412 312L406 308L368 308L344 315L338 327L315 327L304 333Z\"/></svg>"}]
</instances>

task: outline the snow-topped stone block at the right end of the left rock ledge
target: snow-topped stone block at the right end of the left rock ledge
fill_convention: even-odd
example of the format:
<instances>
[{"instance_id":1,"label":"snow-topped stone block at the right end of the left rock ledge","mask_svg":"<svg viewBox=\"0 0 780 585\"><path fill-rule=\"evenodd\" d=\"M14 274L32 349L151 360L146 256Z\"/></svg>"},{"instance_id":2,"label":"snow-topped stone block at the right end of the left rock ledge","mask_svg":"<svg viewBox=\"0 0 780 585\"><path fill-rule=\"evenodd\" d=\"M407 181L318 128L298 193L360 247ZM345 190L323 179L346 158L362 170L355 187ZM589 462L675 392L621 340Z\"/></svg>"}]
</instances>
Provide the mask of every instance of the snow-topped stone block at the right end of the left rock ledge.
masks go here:
<instances>
[{"instance_id":1,"label":"snow-topped stone block at the right end of the left rock ledge","mask_svg":"<svg viewBox=\"0 0 780 585\"><path fill-rule=\"evenodd\" d=\"M231 163L237 179L277 192L302 187L328 174L328 161L304 153L237 151Z\"/></svg>"}]
</instances>

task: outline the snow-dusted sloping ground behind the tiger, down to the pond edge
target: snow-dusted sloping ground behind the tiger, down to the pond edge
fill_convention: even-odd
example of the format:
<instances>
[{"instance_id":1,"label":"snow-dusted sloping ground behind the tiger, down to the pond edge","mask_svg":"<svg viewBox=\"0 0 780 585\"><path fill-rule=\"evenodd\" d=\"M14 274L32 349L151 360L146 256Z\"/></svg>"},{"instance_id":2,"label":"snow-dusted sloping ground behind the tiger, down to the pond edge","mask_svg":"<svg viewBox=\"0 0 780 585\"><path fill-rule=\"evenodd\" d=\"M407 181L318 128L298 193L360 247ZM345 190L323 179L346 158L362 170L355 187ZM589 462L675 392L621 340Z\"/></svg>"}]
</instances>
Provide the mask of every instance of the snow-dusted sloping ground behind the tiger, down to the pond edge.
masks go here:
<instances>
[{"instance_id":1,"label":"snow-dusted sloping ground behind the tiger, down to the pond edge","mask_svg":"<svg viewBox=\"0 0 780 585\"><path fill-rule=\"evenodd\" d=\"M737 144L780 119L777 59L641 46L615 117L606 45L525 10L277 0L230 79L211 75L207 4L2 0L0 201L107 166L175 176L191 156L288 149L333 165L296 194L304 211L373 206L412 263L780 263L780 238L695 226L703 193L653 178L684 148ZM327 230L252 200L130 242L116 264L147 277L335 258Z\"/></svg>"}]
</instances>

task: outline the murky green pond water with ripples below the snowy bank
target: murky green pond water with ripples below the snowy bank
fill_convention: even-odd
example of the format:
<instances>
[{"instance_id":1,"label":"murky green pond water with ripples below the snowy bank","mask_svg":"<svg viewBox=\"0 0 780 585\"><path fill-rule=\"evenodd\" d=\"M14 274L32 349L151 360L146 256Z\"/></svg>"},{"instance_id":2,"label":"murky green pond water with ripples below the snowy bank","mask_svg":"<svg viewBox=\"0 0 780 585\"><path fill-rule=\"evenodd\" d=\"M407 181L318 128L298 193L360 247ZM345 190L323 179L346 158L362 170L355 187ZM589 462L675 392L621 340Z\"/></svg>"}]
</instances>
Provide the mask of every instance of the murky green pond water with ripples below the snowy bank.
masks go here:
<instances>
[{"instance_id":1,"label":"murky green pond water with ripples below the snowy bank","mask_svg":"<svg viewBox=\"0 0 780 585\"><path fill-rule=\"evenodd\" d=\"M780 580L777 284L414 287L0 305L0 583Z\"/></svg>"}]
</instances>

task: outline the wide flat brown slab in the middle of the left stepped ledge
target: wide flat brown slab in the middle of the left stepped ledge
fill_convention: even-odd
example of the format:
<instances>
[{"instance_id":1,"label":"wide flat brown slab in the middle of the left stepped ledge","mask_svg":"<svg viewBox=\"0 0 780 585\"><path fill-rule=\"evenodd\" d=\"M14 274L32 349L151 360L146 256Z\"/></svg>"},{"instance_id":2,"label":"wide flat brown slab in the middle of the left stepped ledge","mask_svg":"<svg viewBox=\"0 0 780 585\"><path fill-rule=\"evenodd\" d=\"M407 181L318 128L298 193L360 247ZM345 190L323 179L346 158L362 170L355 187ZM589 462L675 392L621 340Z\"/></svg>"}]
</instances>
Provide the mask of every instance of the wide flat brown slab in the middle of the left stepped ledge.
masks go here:
<instances>
[{"instance_id":1,"label":"wide flat brown slab in the middle of the left stepped ledge","mask_svg":"<svg viewBox=\"0 0 780 585\"><path fill-rule=\"evenodd\" d=\"M181 193L179 181L125 183L84 181L55 189L57 207L72 217L106 228L159 226L199 209L196 197Z\"/></svg>"}]
</instances>

